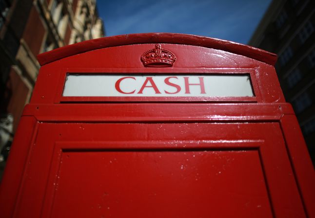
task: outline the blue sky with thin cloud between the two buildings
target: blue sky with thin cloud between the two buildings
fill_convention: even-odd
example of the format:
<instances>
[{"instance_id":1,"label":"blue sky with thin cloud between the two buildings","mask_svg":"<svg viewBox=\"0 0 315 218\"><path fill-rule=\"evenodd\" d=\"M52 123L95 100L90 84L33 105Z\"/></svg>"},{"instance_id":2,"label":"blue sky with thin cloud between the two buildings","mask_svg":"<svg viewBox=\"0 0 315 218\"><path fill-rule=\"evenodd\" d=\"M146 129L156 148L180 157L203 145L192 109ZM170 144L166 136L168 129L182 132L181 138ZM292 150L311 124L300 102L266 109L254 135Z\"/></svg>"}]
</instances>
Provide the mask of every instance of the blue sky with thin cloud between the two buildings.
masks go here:
<instances>
[{"instance_id":1,"label":"blue sky with thin cloud between the two buildings","mask_svg":"<svg viewBox=\"0 0 315 218\"><path fill-rule=\"evenodd\" d=\"M106 36L186 33L246 44L271 0L98 0Z\"/></svg>"}]
</instances>

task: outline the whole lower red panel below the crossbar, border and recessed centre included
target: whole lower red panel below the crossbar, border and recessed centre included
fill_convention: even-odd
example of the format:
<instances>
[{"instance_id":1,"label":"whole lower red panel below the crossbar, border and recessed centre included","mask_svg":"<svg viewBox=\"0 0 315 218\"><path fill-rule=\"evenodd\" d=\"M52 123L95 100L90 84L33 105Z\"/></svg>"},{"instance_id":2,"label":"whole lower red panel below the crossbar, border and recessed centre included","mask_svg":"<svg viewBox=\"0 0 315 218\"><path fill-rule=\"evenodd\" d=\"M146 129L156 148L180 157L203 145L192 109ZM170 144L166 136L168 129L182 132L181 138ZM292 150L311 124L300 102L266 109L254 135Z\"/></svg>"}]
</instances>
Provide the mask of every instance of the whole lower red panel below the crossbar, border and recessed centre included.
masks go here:
<instances>
[{"instance_id":1,"label":"whole lower red panel below the crossbar, border and recessed centre included","mask_svg":"<svg viewBox=\"0 0 315 218\"><path fill-rule=\"evenodd\" d=\"M305 217L278 123L41 123L17 217Z\"/></svg>"}]
</instances>

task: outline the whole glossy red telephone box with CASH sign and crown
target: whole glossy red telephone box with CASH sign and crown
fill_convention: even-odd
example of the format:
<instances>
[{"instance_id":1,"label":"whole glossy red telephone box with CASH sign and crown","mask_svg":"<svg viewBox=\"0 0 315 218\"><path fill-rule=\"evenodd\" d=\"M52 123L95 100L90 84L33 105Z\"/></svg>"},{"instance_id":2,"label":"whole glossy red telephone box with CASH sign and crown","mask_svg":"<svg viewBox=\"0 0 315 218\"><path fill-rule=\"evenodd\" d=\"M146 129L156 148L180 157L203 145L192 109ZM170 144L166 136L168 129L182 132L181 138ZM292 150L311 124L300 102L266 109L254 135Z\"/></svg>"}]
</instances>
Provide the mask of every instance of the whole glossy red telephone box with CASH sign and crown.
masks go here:
<instances>
[{"instance_id":1,"label":"whole glossy red telephone box with CASH sign and crown","mask_svg":"<svg viewBox=\"0 0 315 218\"><path fill-rule=\"evenodd\" d=\"M314 168L275 54L134 34L38 59L1 217L315 217Z\"/></svg>"}]
</instances>

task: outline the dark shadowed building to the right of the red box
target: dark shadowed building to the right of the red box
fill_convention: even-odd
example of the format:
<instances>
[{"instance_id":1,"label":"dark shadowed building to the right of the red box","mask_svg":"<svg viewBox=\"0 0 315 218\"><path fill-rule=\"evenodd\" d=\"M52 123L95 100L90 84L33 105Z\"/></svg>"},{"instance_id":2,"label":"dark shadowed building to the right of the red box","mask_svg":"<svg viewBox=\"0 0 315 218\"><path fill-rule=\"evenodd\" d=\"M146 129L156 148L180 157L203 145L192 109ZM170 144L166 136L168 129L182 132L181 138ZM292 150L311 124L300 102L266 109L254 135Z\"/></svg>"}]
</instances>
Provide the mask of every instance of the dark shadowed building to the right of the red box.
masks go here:
<instances>
[{"instance_id":1,"label":"dark shadowed building to the right of the red box","mask_svg":"<svg viewBox=\"0 0 315 218\"><path fill-rule=\"evenodd\" d=\"M276 53L276 72L315 162L315 4L273 0L249 45Z\"/></svg>"}]
</instances>

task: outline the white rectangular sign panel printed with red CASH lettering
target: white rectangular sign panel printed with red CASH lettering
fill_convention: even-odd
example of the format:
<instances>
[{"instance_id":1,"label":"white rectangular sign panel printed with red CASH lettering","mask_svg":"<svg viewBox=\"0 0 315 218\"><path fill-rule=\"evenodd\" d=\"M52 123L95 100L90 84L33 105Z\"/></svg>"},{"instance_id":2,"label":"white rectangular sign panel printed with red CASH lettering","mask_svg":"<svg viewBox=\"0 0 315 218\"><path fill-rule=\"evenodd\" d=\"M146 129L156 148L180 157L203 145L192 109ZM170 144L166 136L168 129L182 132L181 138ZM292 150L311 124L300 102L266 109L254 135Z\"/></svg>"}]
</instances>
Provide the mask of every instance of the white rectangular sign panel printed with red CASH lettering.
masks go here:
<instances>
[{"instance_id":1,"label":"white rectangular sign panel printed with red CASH lettering","mask_svg":"<svg viewBox=\"0 0 315 218\"><path fill-rule=\"evenodd\" d=\"M64 97L252 97L249 75L68 74Z\"/></svg>"}]
</instances>

